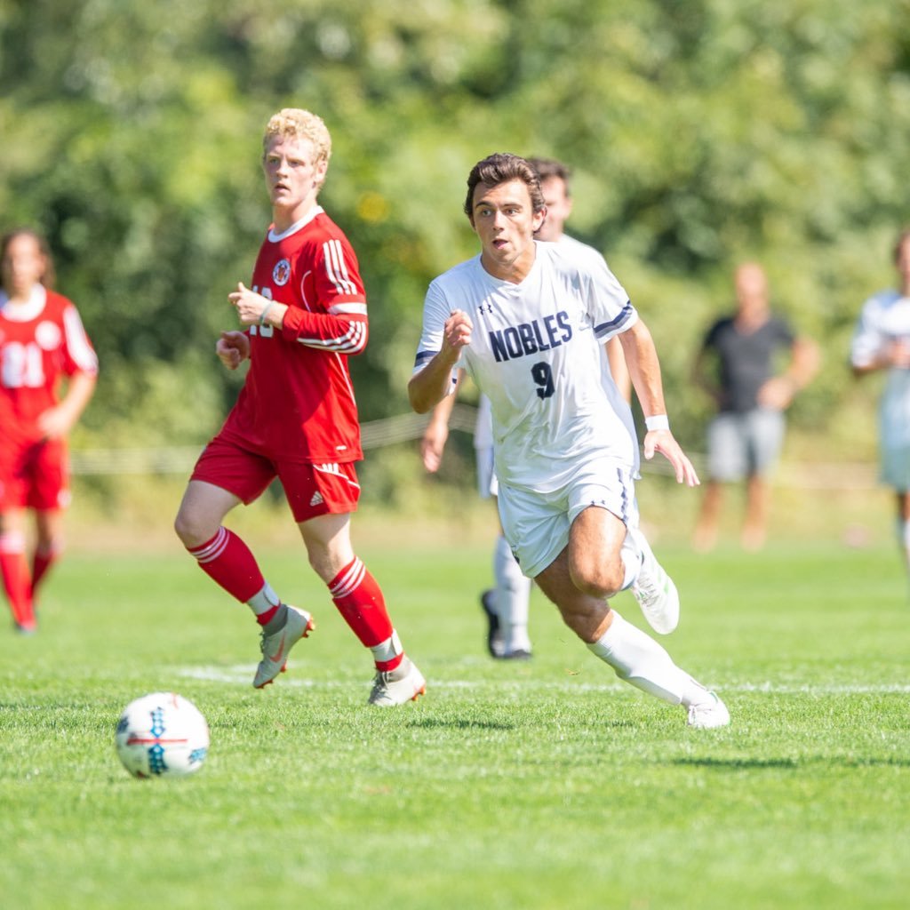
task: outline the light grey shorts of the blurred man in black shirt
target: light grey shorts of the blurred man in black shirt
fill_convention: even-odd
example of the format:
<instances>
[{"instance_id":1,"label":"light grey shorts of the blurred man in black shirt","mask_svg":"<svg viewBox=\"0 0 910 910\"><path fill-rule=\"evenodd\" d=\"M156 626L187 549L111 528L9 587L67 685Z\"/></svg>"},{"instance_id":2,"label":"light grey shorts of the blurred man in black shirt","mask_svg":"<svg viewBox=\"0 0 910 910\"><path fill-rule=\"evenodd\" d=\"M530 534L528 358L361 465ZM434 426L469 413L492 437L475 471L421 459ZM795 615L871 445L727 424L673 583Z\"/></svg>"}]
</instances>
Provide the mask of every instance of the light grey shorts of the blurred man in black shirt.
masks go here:
<instances>
[{"instance_id":1,"label":"light grey shorts of the blurred man in black shirt","mask_svg":"<svg viewBox=\"0 0 910 910\"><path fill-rule=\"evenodd\" d=\"M722 482L764 474L784 445L784 412L723 412L708 424L708 477Z\"/></svg>"}]
</instances>

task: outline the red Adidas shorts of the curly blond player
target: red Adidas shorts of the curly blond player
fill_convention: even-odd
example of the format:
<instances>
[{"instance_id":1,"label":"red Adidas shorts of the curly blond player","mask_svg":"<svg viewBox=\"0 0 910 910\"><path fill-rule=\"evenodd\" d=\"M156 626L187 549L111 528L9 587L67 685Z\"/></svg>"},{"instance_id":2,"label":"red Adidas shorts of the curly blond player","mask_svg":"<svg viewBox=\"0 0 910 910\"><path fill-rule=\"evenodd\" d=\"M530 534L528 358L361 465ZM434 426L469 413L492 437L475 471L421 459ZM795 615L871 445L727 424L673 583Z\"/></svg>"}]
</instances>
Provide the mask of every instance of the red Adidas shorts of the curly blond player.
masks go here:
<instances>
[{"instance_id":1,"label":"red Adidas shorts of the curly blond player","mask_svg":"<svg viewBox=\"0 0 910 910\"><path fill-rule=\"evenodd\" d=\"M204 480L244 504L258 499L272 480L281 481L294 521L357 511L360 485L353 462L307 464L271 460L216 436L199 456L190 480Z\"/></svg>"}]
</instances>

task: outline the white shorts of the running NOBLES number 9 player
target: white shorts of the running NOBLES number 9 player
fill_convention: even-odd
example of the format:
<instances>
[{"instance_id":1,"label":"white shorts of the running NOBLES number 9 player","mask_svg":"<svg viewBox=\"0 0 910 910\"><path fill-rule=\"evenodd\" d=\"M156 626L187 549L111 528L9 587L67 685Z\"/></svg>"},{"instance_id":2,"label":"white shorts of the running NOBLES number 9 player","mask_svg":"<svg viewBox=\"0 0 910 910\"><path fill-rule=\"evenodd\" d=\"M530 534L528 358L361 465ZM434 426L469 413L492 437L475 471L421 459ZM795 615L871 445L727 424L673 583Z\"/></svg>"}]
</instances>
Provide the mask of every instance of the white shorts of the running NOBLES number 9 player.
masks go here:
<instances>
[{"instance_id":1,"label":"white shorts of the running NOBLES number 9 player","mask_svg":"<svg viewBox=\"0 0 910 910\"><path fill-rule=\"evenodd\" d=\"M638 525L635 484L625 462L596 458L579 465L570 483L552 492L500 485L502 531L521 571L541 574L569 543L572 521L589 506L611 511L627 526Z\"/></svg>"}]
</instances>

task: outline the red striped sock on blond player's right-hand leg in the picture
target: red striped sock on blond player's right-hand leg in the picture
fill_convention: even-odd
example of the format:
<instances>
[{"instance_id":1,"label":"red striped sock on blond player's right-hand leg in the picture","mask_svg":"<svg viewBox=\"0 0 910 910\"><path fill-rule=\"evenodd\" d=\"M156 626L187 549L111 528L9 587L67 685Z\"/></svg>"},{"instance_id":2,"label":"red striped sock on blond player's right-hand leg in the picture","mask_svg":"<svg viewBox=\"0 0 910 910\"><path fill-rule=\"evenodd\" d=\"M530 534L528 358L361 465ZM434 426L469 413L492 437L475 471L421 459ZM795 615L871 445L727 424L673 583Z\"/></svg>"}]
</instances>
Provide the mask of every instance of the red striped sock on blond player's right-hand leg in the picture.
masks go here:
<instances>
[{"instance_id":1,"label":"red striped sock on blond player's right-hand leg in the picture","mask_svg":"<svg viewBox=\"0 0 910 910\"><path fill-rule=\"evenodd\" d=\"M394 670L404 658L379 582L355 556L329 581L329 594L360 643L373 653L377 670Z\"/></svg>"}]
</instances>

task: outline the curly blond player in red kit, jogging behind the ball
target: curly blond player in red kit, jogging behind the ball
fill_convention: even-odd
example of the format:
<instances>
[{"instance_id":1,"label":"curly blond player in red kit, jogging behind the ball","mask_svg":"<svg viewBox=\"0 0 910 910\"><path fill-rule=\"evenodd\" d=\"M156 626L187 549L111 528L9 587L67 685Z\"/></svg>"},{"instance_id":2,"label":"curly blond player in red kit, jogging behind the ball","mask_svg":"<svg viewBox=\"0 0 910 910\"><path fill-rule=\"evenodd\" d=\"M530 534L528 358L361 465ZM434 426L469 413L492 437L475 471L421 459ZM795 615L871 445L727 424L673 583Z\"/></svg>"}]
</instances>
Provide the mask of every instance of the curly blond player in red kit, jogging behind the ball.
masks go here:
<instances>
[{"instance_id":1,"label":"curly blond player in red kit, jogging behind the ball","mask_svg":"<svg viewBox=\"0 0 910 910\"><path fill-rule=\"evenodd\" d=\"M278 597L247 544L221 522L278 477L309 564L372 652L369 703L390 707L416 699L426 683L350 541L360 492L354 462L363 454L348 357L366 346L367 302L348 238L317 204L330 155L318 116L285 108L268 121L262 166L273 220L252 288L241 282L228 295L248 329L222 332L216 345L228 369L248 359L249 371L197 460L175 528L199 566L256 614L262 660L253 685L261 689L285 669L288 652L314 622Z\"/></svg>"}]
</instances>

